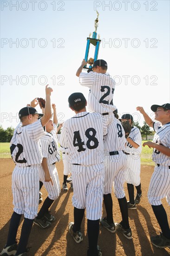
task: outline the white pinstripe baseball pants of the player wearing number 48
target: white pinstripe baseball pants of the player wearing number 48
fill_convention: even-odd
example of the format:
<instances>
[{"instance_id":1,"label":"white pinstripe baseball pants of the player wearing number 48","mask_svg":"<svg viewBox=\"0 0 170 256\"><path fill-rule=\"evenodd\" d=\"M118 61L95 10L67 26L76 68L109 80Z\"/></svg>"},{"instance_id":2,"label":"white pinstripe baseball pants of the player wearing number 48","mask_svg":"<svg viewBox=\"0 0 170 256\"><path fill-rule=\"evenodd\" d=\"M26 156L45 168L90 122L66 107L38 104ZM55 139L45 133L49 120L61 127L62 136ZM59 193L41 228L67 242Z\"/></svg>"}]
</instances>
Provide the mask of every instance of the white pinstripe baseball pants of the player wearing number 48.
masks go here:
<instances>
[{"instance_id":1,"label":"white pinstripe baseball pants of the player wearing number 48","mask_svg":"<svg viewBox=\"0 0 170 256\"><path fill-rule=\"evenodd\" d=\"M72 164L72 184L74 187L72 205L86 208L89 220L102 216L104 164L81 166Z\"/></svg>"}]
</instances>

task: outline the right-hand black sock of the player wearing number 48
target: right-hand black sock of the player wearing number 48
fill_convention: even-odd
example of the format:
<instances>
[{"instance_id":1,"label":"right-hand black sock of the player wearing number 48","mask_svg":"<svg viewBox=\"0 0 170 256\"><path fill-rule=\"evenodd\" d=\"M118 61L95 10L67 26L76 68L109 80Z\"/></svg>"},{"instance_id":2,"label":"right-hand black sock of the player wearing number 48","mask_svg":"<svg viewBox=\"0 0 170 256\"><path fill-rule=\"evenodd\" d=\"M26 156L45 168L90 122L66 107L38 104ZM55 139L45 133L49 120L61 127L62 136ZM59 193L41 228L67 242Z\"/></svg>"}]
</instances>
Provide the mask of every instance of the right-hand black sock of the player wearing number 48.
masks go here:
<instances>
[{"instance_id":1,"label":"right-hand black sock of the player wearing number 48","mask_svg":"<svg viewBox=\"0 0 170 256\"><path fill-rule=\"evenodd\" d=\"M91 221L87 219L87 234L89 241L88 256L97 256L99 220Z\"/></svg>"}]
</instances>

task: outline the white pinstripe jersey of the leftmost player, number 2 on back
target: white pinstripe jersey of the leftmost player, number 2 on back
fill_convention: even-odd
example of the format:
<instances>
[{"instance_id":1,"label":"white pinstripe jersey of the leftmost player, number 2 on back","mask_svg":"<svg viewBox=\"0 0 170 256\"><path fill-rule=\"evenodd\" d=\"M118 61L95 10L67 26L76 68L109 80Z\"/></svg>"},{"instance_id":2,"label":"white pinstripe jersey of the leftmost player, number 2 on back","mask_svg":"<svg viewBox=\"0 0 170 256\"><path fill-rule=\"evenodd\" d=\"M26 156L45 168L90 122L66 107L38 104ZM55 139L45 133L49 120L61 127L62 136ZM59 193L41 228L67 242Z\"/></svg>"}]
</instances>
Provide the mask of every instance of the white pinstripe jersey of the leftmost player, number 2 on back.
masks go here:
<instances>
[{"instance_id":1,"label":"white pinstripe jersey of the leftmost player, number 2 on back","mask_svg":"<svg viewBox=\"0 0 170 256\"><path fill-rule=\"evenodd\" d=\"M14 130L10 142L13 161L17 166L26 167L42 162L40 138L45 135L41 121L22 126L20 123Z\"/></svg>"}]
</instances>

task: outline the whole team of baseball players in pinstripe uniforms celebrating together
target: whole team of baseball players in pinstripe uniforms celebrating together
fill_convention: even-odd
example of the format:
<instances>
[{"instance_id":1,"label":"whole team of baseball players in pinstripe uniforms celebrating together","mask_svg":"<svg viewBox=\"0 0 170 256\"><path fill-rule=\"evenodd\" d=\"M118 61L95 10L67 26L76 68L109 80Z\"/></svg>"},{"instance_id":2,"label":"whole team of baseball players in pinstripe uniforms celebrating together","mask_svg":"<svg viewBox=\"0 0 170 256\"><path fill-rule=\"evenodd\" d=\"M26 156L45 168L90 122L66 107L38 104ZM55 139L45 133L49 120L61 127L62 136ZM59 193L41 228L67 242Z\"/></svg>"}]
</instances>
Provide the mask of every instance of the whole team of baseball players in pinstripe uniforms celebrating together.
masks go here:
<instances>
[{"instance_id":1,"label":"whole team of baseball players in pinstripe uniforms celebrating together","mask_svg":"<svg viewBox=\"0 0 170 256\"><path fill-rule=\"evenodd\" d=\"M132 115L124 114L121 120L128 120L132 126L129 136L125 138L124 128L117 119L117 107L113 104L115 82L107 73L106 61L95 61L87 73L82 72L86 64L83 60L76 75L79 77L79 83L90 89L88 101L82 93L73 93L69 96L69 108L75 115L62 125L59 142L62 152L66 154L67 168L65 167L64 171L63 190L68 190L65 184L70 172L70 181L74 188L74 222L68 224L69 232L76 243L83 240L81 222L86 209L89 242L87 256L101 256L102 252L98 245L99 223L111 233L118 231L127 239L132 239L128 209L137 209L136 205L142 197L142 138L139 129L133 126ZM60 156L56 135L57 115L55 104L51 105L51 92L52 88L46 86L46 107L42 108L44 115L38 114L35 108L28 106L19 112L21 123L15 129L10 144L11 155L16 164L12 175L14 211L7 243L1 256L26 256L26 245L33 222L46 229L55 221L49 209L60 193L59 177L55 167ZM53 121L50 119L51 106ZM92 113L87 112L86 107ZM150 119L143 107L137 107L137 110L144 115L146 123L156 131L153 142L144 142L144 146L153 148L152 156L156 167L150 180L148 200L162 232L150 239L158 248L170 248L170 227L161 202L161 199L166 197L170 205L170 104L151 106L157 122ZM38 213L39 181L43 182L48 196ZM127 182L129 202L125 197L124 182ZM136 197L134 186L137 189ZM118 198L121 222L113 220L112 187ZM103 200L105 217L102 217ZM24 222L20 242L17 243L17 230L22 214Z\"/></svg>"}]
</instances>

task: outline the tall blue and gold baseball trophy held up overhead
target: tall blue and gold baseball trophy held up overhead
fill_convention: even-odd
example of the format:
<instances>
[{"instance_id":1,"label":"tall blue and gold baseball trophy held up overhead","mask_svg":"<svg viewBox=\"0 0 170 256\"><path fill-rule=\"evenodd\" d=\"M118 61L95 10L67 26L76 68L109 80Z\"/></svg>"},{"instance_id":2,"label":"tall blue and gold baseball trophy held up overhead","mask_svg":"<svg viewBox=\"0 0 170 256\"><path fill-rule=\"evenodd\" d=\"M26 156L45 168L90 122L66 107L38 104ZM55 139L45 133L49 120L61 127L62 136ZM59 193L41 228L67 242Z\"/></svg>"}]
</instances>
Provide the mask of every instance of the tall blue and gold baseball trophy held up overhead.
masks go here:
<instances>
[{"instance_id":1,"label":"tall blue and gold baseball trophy held up overhead","mask_svg":"<svg viewBox=\"0 0 170 256\"><path fill-rule=\"evenodd\" d=\"M86 50L85 50L85 61L88 61L89 67L87 67L87 65L85 65L83 68L89 69L92 68L92 65L94 63L94 61L96 61L98 59L98 51L99 51L99 46L100 46L100 42L101 40L99 39L100 36L98 35L98 39L97 39L97 28L98 28L98 11L97 12L97 18L94 21L94 27L95 27L95 31L91 36L91 33L89 34L89 37L87 37L87 45L86 45ZM90 58L88 59L89 56L89 49L90 49L90 44L95 46L95 52L94 52L94 59Z\"/></svg>"}]
</instances>

